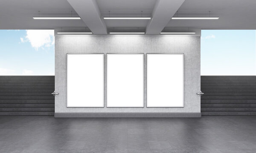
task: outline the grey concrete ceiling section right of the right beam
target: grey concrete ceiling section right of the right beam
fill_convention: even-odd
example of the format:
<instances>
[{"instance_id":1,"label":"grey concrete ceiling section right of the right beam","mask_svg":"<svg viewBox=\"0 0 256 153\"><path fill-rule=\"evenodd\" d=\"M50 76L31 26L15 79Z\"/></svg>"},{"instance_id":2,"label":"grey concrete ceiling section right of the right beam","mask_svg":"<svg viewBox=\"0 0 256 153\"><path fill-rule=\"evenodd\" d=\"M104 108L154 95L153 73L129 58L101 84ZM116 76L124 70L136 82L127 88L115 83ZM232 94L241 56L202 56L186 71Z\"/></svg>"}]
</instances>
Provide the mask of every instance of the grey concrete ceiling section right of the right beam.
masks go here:
<instances>
[{"instance_id":1,"label":"grey concrete ceiling section right of the right beam","mask_svg":"<svg viewBox=\"0 0 256 153\"><path fill-rule=\"evenodd\" d=\"M178 16L209 16L209 11L220 19L170 20L166 27L256 29L256 0L185 0Z\"/></svg>"}]
</instances>

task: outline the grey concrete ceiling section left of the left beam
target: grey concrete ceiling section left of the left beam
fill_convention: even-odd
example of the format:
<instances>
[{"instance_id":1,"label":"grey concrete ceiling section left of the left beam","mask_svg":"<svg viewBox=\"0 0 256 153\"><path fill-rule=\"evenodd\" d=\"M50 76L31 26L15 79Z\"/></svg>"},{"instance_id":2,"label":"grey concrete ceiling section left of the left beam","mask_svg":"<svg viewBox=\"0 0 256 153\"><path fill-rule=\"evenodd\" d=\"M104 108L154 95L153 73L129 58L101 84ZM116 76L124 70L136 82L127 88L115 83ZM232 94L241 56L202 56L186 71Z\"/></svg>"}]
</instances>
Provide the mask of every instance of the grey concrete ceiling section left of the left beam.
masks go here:
<instances>
[{"instance_id":1,"label":"grey concrete ceiling section left of the left beam","mask_svg":"<svg viewBox=\"0 0 256 153\"><path fill-rule=\"evenodd\" d=\"M34 20L41 16L78 16L67 0L0 0L0 29L84 27L82 20Z\"/></svg>"}]
</instances>

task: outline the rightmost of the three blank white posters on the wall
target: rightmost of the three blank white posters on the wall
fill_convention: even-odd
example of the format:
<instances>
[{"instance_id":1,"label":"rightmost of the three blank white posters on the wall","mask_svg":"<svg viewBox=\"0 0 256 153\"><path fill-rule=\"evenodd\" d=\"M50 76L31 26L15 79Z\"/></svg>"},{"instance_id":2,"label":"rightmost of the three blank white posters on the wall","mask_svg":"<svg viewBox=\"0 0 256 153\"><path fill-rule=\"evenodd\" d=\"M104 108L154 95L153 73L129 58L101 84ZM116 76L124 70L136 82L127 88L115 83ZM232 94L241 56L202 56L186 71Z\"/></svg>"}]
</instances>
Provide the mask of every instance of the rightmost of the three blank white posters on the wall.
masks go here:
<instances>
[{"instance_id":1,"label":"rightmost of the three blank white posters on the wall","mask_svg":"<svg viewBox=\"0 0 256 153\"><path fill-rule=\"evenodd\" d=\"M183 107L183 54L147 54L147 107Z\"/></svg>"}]
</instances>

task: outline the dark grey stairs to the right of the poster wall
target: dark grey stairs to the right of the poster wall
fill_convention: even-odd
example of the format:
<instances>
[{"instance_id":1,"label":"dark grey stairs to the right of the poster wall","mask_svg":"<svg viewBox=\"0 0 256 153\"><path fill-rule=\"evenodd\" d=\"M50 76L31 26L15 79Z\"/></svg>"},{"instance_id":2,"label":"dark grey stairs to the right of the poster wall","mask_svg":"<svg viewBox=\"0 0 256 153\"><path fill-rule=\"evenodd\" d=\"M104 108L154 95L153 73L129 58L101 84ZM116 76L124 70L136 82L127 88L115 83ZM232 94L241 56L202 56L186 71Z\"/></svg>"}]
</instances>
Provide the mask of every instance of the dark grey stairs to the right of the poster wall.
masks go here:
<instances>
[{"instance_id":1,"label":"dark grey stairs to the right of the poster wall","mask_svg":"<svg viewBox=\"0 0 256 153\"><path fill-rule=\"evenodd\" d=\"M256 115L256 76L201 76L202 115Z\"/></svg>"}]
</instances>

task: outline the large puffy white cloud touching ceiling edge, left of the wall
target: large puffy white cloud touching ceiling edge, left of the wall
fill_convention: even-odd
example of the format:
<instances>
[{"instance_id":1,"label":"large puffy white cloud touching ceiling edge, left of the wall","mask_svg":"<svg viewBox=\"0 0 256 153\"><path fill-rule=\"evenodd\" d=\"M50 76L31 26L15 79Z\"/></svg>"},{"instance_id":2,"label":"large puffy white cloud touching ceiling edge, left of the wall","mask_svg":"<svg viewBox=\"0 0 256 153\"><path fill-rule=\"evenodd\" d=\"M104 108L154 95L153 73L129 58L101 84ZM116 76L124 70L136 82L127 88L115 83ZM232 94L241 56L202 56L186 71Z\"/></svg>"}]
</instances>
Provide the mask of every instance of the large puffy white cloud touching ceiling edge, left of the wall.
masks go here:
<instances>
[{"instance_id":1,"label":"large puffy white cloud touching ceiling edge, left of the wall","mask_svg":"<svg viewBox=\"0 0 256 153\"><path fill-rule=\"evenodd\" d=\"M29 41L33 48L50 47L54 45L54 30L26 30L26 37L21 42Z\"/></svg>"}]
</instances>

